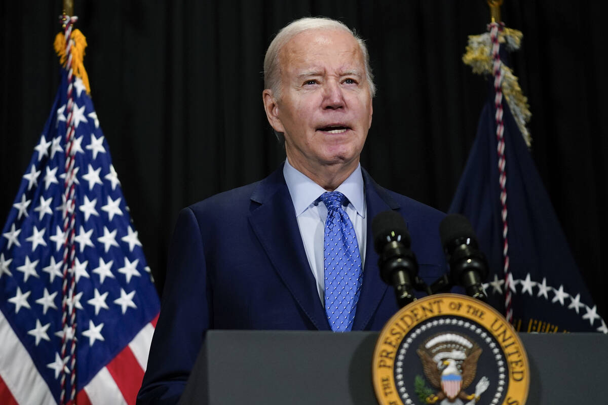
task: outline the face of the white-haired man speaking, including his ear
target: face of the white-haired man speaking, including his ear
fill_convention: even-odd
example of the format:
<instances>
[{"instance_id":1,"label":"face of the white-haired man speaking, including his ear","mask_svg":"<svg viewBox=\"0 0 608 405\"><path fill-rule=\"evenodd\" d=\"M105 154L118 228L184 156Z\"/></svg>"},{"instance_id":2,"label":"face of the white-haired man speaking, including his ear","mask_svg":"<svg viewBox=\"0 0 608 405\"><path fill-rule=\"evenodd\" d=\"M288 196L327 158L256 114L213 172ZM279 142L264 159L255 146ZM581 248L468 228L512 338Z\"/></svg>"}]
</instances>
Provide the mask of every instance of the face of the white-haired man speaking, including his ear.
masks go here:
<instances>
[{"instance_id":1,"label":"face of the white-haired man speaking, including his ear","mask_svg":"<svg viewBox=\"0 0 608 405\"><path fill-rule=\"evenodd\" d=\"M279 61L282 97L271 124L285 134L289 163L307 175L334 165L354 169L372 114L356 39L340 30L303 32L283 46Z\"/></svg>"}]
</instances>

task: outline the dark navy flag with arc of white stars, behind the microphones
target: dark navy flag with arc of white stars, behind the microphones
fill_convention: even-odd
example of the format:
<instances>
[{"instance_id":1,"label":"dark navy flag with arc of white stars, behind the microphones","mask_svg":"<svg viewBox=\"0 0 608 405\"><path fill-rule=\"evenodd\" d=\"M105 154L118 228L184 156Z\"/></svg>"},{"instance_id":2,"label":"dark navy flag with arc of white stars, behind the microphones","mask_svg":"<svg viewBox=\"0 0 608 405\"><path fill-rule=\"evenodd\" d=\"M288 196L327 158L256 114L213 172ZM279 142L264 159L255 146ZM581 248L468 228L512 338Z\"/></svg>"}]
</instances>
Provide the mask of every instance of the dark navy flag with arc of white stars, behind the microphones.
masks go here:
<instances>
[{"instance_id":1,"label":"dark navy flag with arc of white stars, behind the microphones","mask_svg":"<svg viewBox=\"0 0 608 405\"><path fill-rule=\"evenodd\" d=\"M503 311L503 225L494 101L492 88L449 212L471 220L490 265L485 284L489 304ZM513 325L522 332L608 333L507 103L503 110Z\"/></svg>"}]
</instances>

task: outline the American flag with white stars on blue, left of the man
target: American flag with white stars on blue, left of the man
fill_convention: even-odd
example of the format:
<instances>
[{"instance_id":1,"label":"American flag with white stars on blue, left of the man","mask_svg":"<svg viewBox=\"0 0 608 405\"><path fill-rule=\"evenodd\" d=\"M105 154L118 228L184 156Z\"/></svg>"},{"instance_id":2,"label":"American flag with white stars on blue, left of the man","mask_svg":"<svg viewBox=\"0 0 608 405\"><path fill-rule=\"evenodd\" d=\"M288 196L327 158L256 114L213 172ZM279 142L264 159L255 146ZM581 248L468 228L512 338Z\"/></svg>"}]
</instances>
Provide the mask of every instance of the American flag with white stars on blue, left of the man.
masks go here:
<instances>
[{"instance_id":1,"label":"American flag with white stars on blue, left of the man","mask_svg":"<svg viewBox=\"0 0 608 405\"><path fill-rule=\"evenodd\" d=\"M159 300L91 98L80 78L61 71L54 106L0 234L0 403L67 403L74 372L78 404L134 404ZM67 289L66 307L68 313L75 308L75 364L74 336L62 323L71 155L75 255L67 277L75 290Z\"/></svg>"}]
</instances>

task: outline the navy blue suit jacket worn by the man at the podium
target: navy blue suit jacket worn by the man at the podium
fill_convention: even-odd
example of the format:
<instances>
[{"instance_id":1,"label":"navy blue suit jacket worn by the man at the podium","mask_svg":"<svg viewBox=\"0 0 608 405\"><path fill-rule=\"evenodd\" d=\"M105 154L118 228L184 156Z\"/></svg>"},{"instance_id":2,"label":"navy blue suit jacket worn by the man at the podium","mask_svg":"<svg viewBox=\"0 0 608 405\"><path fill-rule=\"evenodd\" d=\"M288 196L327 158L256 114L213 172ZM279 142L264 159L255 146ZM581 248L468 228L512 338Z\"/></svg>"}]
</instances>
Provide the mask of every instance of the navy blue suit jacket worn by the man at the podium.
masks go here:
<instances>
[{"instance_id":1,"label":"navy blue suit jacket worn by the man at the podium","mask_svg":"<svg viewBox=\"0 0 608 405\"><path fill-rule=\"evenodd\" d=\"M444 214L382 188L363 172L367 230L381 211L406 219L419 274L446 270ZM380 330L398 310L367 237L353 330ZM138 403L176 403L208 329L330 330L310 270L282 166L260 182L223 192L179 214L161 315Z\"/></svg>"}]
</instances>

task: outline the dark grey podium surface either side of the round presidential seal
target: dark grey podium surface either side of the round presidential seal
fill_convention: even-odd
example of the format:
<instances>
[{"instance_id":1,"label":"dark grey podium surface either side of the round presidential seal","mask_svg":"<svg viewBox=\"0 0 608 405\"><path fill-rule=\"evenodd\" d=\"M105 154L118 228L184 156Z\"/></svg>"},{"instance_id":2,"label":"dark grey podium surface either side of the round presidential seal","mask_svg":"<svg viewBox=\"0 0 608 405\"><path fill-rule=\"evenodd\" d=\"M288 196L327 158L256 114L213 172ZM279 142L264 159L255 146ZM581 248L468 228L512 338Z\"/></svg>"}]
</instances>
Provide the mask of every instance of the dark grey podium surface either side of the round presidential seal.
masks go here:
<instances>
[{"instance_id":1,"label":"dark grey podium surface either side of the round presidential seal","mask_svg":"<svg viewBox=\"0 0 608 405\"><path fill-rule=\"evenodd\" d=\"M608 336L519 336L530 361L527 404L608 403ZM375 405L376 338L377 332L210 330L180 403Z\"/></svg>"}]
</instances>

